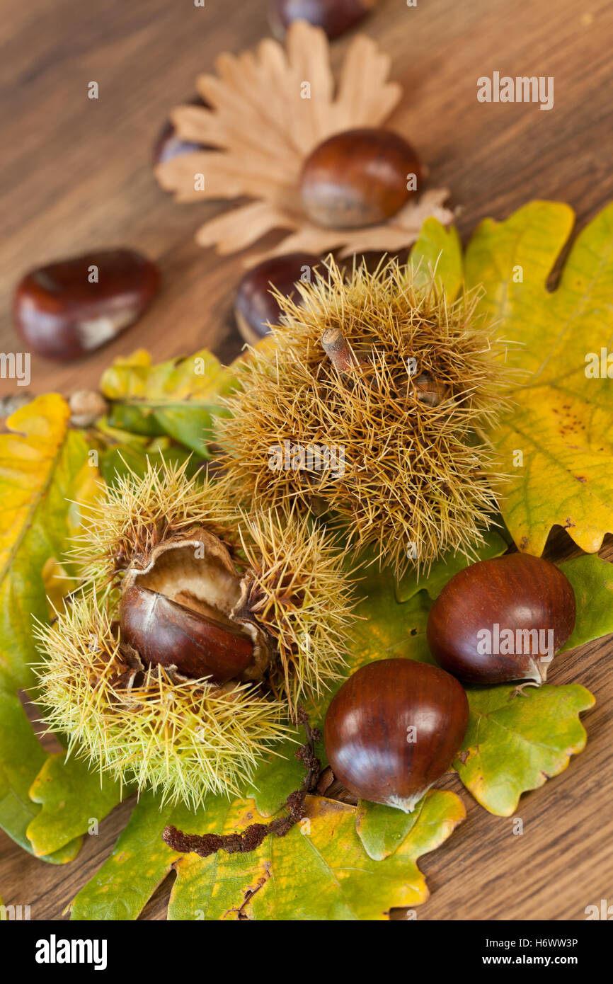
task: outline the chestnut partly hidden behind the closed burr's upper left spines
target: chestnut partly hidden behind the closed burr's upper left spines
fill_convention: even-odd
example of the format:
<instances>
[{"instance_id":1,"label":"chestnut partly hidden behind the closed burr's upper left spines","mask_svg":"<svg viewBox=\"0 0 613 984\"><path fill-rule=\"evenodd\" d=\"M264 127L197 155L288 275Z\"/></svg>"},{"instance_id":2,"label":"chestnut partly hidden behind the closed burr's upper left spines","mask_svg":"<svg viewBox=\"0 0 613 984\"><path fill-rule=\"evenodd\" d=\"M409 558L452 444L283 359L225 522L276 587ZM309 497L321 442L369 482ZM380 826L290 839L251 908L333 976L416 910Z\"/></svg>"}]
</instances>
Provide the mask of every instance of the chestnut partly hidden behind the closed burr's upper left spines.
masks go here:
<instances>
[{"instance_id":1,"label":"chestnut partly hidden behind the closed burr's upper left spines","mask_svg":"<svg viewBox=\"0 0 613 984\"><path fill-rule=\"evenodd\" d=\"M255 345L269 334L269 323L278 324L281 312L276 296L280 293L291 297L296 304L301 301L296 282L304 276L305 268L313 270L320 258L312 253L288 253L274 256L247 271L236 290L234 314L242 337Z\"/></svg>"}]
</instances>

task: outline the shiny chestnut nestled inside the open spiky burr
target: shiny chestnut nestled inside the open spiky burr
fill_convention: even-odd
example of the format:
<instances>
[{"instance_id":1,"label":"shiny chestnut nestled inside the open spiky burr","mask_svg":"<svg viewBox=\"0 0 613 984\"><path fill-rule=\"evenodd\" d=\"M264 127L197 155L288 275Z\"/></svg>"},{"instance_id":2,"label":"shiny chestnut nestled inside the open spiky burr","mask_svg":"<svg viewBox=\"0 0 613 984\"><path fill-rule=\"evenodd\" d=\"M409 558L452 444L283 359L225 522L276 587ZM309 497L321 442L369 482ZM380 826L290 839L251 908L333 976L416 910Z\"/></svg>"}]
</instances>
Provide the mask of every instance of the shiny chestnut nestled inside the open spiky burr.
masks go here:
<instances>
[{"instance_id":1,"label":"shiny chestnut nestled inside the open spiky burr","mask_svg":"<svg viewBox=\"0 0 613 984\"><path fill-rule=\"evenodd\" d=\"M122 595L122 639L148 666L176 666L187 677L223 684L253 663L253 641L229 621L220 622L134 584Z\"/></svg>"}]
</instances>

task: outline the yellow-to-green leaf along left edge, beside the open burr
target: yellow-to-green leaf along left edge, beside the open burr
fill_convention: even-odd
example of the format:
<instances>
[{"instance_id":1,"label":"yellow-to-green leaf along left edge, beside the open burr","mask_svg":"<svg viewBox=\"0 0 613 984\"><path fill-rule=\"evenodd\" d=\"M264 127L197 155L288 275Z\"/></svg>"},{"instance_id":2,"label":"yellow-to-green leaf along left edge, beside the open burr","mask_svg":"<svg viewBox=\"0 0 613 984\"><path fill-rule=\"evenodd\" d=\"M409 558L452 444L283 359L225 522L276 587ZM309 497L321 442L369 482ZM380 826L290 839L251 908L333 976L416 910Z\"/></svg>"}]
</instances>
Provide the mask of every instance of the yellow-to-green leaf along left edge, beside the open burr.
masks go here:
<instances>
[{"instance_id":1,"label":"yellow-to-green leaf along left edge, beside the open burr","mask_svg":"<svg viewBox=\"0 0 613 984\"><path fill-rule=\"evenodd\" d=\"M61 397L38 397L0 435L0 826L28 849L26 830L38 810L28 792L46 756L17 692L34 684L31 630L34 618L47 618L49 561L64 555L98 477L69 416ZM45 860L68 860L79 843L64 840L59 855Z\"/></svg>"}]
</instances>

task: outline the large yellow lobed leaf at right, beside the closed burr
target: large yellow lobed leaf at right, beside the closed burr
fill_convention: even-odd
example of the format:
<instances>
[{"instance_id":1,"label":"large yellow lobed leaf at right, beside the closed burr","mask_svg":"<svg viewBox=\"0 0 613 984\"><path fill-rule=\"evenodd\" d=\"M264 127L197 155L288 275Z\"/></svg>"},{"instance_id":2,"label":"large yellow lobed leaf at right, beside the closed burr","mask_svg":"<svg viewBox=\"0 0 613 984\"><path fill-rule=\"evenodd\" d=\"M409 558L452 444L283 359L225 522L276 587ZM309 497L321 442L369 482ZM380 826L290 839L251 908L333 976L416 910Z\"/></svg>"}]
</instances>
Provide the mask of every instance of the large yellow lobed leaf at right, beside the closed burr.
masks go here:
<instances>
[{"instance_id":1,"label":"large yellow lobed leaf at right, beside the closed burr","mask_svg":"<svg viewBox=\"0 0 613 984\"><path fill-rule=\"evenodd\" d=\"M491 437L513 476L505 522L536 555L554 524L588 553L613 530L613 205L582 230L550 291L573 221L566 205L532 202L484 221L465 255L467 286L485 287L481 310L519 342L509 361L523 378Z\"/></svg>"}]
</instances>

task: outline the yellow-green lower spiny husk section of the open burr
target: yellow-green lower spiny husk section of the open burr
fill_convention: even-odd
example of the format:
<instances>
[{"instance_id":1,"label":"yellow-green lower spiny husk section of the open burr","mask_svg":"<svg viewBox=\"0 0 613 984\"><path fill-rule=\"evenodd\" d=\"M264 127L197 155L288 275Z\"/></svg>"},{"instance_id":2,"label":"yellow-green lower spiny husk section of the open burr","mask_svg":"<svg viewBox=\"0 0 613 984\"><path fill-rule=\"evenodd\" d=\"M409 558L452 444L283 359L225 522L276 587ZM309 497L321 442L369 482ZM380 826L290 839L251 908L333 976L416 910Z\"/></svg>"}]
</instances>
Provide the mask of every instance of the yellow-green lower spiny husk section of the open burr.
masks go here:
<instances>
[{"instance_id":1,"label":"yellow-green lower spiny husk section of the open burr","mask_svg":"<svg viewBox=\"0 0 613 984\"><path fill-rule=\"evenodd\" d=\"M122 642L108 596L77 599L36 636L49 729L93 769L159 792L162 802L197 809L207 793L238 792L285 733L283 707L259 688L147 666Z\"/></svg>"}]
</instances>

